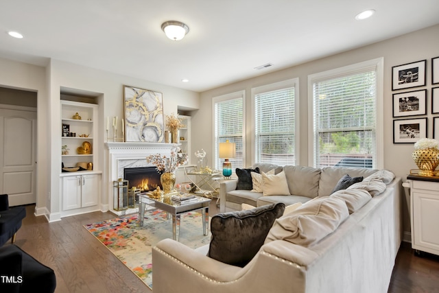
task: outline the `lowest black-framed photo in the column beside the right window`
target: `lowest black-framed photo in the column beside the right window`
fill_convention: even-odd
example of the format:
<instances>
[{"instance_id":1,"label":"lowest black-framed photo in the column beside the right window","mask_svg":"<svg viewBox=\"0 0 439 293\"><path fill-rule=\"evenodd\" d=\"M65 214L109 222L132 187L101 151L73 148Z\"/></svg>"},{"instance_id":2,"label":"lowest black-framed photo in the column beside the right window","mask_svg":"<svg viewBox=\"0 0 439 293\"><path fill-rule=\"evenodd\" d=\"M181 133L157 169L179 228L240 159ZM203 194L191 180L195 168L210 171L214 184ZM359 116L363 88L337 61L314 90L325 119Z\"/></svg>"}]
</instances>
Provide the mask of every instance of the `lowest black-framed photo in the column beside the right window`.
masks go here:
<instances>
[{"instance_id":1,"label":"lowest black-framed photo in the column beside the right window","mask_svg":"<svg viewBox=\"0 0 439 293\"><path fill-rule=\"evenodd\" d=\"M393 121L393 143L416 143L427 137L427 118Z\"/></svg>"}]
</instances>

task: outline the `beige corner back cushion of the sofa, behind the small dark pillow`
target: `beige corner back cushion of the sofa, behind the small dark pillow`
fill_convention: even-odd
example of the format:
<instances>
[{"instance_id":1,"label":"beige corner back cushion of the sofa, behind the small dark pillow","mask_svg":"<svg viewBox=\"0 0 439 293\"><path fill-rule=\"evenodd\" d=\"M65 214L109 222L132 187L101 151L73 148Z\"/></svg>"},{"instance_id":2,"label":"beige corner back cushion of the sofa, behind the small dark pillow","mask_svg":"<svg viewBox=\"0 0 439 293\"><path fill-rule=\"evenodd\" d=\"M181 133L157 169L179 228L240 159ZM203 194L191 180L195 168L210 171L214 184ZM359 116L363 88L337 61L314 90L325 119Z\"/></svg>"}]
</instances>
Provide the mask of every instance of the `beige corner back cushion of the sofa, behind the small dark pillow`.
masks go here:
<instances>
[{"instance_id":1,"label":"beige corner back cushion of the sofa, behind the small dark pillow","mask_svg":"<svg viewBox=\"0 0 439 293\"><path fill-rule=\"evenodd\" d=\"M353 167L324 167L320 175L320 182L318 185L318 196L331 195L338 180L344 175L349 174L352 177L363 176L366 178L369 175L377 172L376 169L353 168Z\"/></svg>"}]
</instances>

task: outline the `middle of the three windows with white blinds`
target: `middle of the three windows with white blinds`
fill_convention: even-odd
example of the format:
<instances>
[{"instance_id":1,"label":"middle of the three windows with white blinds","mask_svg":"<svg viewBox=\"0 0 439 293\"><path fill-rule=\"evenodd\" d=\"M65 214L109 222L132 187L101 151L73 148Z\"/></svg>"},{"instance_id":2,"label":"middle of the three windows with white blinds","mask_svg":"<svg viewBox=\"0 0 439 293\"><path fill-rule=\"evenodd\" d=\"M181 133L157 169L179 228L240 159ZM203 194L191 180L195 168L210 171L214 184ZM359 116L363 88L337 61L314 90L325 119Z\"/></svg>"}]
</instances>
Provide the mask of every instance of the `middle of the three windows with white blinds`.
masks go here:
<instances>
[{"instance_id":1,"label":"middle of the three windows with white blinds","mask_svg":"<svg viewBox=\"0 0 439 293\"><path fill-rule=\"evenodd\" d=\"M255 162L295 165L297 83L287 80L252 90Z\"/></svg>"}]
</instances>

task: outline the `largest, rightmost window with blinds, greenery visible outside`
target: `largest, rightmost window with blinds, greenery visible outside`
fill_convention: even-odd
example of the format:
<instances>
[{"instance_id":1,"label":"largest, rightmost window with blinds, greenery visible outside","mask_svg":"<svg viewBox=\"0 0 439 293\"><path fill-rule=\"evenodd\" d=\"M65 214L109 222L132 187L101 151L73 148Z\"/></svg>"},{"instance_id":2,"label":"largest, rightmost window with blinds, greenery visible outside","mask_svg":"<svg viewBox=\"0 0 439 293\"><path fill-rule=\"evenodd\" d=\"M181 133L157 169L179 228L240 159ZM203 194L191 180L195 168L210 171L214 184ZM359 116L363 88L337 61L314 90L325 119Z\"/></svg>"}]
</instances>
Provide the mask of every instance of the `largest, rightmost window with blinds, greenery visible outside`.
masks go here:
<instances>
[{"instance_id":1,"label":"largest, rightmost window with blinds, greenery visible outside","mask_svg":"<svg viewBox=\"0 0 439 293\"><path fill-rule=\"evenodd\" d=\"M310 75L314 166L381 165L381 77L382 59Z\"/></svg>"}]
</instances>

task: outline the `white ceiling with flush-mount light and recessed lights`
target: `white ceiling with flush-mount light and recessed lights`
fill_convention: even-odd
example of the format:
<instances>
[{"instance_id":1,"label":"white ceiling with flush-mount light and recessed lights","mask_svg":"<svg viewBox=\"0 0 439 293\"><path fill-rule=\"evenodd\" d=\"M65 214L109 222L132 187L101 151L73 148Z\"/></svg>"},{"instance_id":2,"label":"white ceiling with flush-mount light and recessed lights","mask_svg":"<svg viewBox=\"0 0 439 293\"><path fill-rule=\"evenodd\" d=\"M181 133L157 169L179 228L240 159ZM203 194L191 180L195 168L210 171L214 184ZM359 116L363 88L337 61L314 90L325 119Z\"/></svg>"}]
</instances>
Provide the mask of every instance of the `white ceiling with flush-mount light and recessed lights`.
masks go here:
<instances>
[{"instance_id":1,"label":"white ceiling with flush-mount light and recessed lights","mask_svg":"<svg viewBox=\"0 0 439 293\"><path fill-rule=\"evenodd\" d=\"M377 12L356 21L366 9ZM205 91L429 27L438 15L438 0L1 0L0 56ZM189 34L169 40L169 20Z\"/></svg>"}]
</instances>

